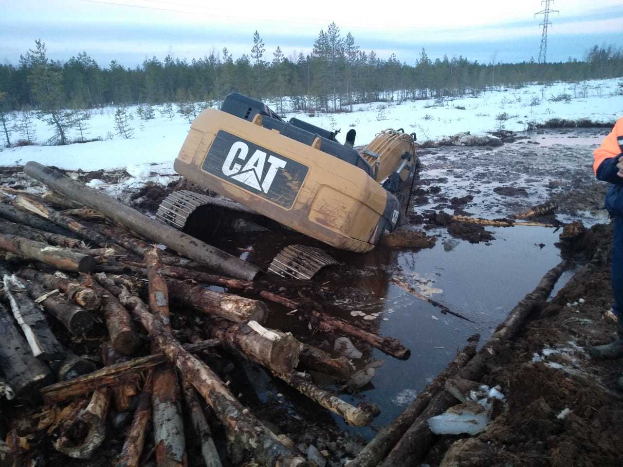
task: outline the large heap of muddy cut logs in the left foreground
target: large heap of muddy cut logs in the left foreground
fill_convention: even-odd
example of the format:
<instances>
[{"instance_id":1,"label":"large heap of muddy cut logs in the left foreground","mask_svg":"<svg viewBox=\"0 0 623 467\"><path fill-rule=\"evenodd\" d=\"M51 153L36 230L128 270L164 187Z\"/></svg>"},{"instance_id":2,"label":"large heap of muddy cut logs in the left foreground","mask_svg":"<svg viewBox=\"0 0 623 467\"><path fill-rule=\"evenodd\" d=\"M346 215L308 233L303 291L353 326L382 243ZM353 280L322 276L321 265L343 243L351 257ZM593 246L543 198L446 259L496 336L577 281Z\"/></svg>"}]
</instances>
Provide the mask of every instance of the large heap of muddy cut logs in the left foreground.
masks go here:
<instances>
[{"instance_id":1,"label":"large heap of muddy cut logs in the left foreground","mask_svg":"<svg viewBox=\"0 0 623 467\"><path fill-rule=\"evenodd\" d=\"M335 318L318 303L283 296L283 283L254 265L48 167L29 163L24 172L56 193L13 191L0 199L0 399L39 407L38 428L54 433L55 450L92 458L113 429L114 413L115 427L126 430L117 466L142 465L152 457L156 465L184 466L186 413L205 464L219 466L224 450L212 438L209 407L212 426L226 433L228 463L314 465L231 394L212 368L219 352L264 367L350 425L371 422L369 411L316 385L308 374L348 382L353 364L287 329L266 328L266 303L296 311L320 332L406 359L409 350L401 342ZM204 326L176 329L178 313L170 313L169 303L174 311L205 316ZM89 347L90 355L72 352L77 343ZM19 430L3 430L0 424L10 455L24 461L17 459L25 452ZM150 432L153 443L146 439Z\"/></svg>"}]
</instances>

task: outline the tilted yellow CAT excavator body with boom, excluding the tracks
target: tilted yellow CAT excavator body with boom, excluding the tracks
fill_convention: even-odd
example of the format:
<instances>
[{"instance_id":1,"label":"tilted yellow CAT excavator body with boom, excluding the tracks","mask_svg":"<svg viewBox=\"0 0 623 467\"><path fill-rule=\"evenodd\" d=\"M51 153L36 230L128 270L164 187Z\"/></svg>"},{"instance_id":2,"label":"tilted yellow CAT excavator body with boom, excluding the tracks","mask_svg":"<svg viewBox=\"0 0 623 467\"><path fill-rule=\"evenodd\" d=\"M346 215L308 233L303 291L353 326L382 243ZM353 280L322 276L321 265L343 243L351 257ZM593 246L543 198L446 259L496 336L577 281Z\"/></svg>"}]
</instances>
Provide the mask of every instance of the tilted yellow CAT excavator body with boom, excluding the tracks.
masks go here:
<instances>
[{"instance_id":1,"label":"tilted yellow CAT excavator body with boom, excluding the tracks","mask_svg":"<svg viewBox=\"0 0 623 467\"><path fill-rule=\"evenodd\" d=\"M408 135L381 133L359 153L335 136L283 121L264 103L234 93L221 110L204 110L193 121L174 169L290 229L366 252L396 227L401 211L379 182L392 168L408 176L414 146L411 140L407 148Z\"/></svg>"}]
</instances>

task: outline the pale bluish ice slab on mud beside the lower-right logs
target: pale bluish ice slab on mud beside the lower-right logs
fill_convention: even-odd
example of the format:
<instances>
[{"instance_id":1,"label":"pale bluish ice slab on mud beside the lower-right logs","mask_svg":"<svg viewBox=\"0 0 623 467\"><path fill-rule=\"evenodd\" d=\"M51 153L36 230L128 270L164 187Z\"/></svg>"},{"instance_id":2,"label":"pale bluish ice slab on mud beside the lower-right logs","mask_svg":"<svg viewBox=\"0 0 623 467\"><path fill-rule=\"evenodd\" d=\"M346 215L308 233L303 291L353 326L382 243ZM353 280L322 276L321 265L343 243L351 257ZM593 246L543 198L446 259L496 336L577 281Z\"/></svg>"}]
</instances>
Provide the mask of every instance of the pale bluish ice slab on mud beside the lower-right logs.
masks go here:
<instances>
[{"instance_id":1,"label":"pale bluish ice slab on mud beside the lower-right logs","mask_svg":"<svg viewBox=\"0 0 623 467\"><path fill-rule=\"evenodd\" d=\"M487 408L477 402L467 402L450 407L442 415L428 420L430 431L436 435L477 435L491 422Z\"/></svg>"}]
</instances>

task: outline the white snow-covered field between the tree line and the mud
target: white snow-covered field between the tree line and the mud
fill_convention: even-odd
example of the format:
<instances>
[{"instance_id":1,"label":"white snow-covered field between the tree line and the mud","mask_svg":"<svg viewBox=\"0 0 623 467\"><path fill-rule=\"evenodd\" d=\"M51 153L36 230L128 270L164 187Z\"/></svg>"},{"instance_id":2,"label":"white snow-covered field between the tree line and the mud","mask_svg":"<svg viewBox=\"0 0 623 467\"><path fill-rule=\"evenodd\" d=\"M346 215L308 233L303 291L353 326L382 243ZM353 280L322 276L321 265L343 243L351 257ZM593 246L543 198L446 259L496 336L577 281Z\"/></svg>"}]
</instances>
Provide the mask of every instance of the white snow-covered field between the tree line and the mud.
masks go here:
<instances>
[{"instance_id":1,"label":"white snow-covered field between the tree line and the mud","mask_svg":"<svg viewBox=\"0 0 623 467\"><path fill-rule=\"evenodd\" d=\"M545 87L535 85L485 92L478 97L404 101L399 105L380 102L361 104L354 106L352 113L318 114L313 117L290 113L284 116L296 116L328 130L339 128L338 140L344 138L350 128L355 128L356 144L368 143L385 128L404 128L407 133L416 132L419 141L424 141L463 131L472 134L499 129L523 131L528 122L542 123L551 118L615 121L623 115L622 83L617 78L556 83ZM564 96L566 98L561 98ZM180 115L169 120L166 116L160 116L156 107L156 118L143 122L143 128L140 128L136 108L128 110L134 115L131 126L135 131L131 139L115 134L115 108L107 107L93 110L88 121L88 137L102 138L103 141L67 146L4 148L0 150L0 166L37 161L65 169L93 171L157 163L164 164L162 172L169 169L172 172L173 160L189 130L188 121ZM50 129L36 120L36 141L46 141L51 135ZM70 138L76 136L70 133ZM11 137L19 139L19 134L12 133ZM135 167L135 170L141 172L140 167Z\"/></svg>"}]
</instances>

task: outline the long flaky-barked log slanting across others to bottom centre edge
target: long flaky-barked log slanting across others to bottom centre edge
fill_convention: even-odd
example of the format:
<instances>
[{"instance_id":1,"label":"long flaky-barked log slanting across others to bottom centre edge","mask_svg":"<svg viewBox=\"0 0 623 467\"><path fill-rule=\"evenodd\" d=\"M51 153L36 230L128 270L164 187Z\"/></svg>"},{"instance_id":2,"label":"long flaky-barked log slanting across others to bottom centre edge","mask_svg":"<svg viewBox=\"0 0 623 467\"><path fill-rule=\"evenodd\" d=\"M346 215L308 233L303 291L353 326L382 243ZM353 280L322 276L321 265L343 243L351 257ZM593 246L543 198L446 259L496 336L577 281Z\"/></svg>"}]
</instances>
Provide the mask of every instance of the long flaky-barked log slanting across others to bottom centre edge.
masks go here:
<instances>
[{"instance_id":1,"label":"long flaky-barked log slanting across others to bottom centre edge","mask_svg":"<svg viewBox=\"0 0 623 467\"><path fill-rule=\"evenodd\" d=\"M214 413L226 428L229 453L234 465L253 459L267 467L312 467L310 462L284 445L277 435L244 408L206 364L185 351L171 333L166 331L166 324L161 316L151 314L145 303L138 297L130 296L125 288L120 300L140 319L169 362L176 366L214 409Z\"/></svg>"}]
</instances>

